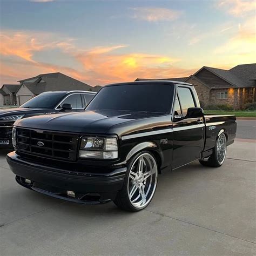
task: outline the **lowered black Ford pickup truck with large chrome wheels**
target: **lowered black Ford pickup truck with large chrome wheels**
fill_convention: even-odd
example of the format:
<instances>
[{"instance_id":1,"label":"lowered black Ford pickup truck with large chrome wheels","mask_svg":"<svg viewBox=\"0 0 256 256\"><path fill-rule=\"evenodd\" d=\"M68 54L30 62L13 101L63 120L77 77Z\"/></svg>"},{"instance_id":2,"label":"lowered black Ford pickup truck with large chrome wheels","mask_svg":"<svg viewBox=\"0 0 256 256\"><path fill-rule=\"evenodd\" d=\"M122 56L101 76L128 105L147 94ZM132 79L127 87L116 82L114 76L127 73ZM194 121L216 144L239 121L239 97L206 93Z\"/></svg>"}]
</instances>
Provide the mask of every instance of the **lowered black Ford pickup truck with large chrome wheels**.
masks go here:
<instances>
[{"instance_id":1,"label":"lowered black Ford pickup truck with large chrome wheels","mask_svg":"<svg viewBox=\"0 0 256 256\"><path fill-rule=\"evenodd\" d=\"M7 156L18 184L85 204L149 205L158 175L199 160L219 167L235 116L204 116L193 85L106 85L84 112L18 120Z\"/></svg>"}]
</instances>

